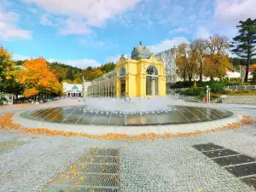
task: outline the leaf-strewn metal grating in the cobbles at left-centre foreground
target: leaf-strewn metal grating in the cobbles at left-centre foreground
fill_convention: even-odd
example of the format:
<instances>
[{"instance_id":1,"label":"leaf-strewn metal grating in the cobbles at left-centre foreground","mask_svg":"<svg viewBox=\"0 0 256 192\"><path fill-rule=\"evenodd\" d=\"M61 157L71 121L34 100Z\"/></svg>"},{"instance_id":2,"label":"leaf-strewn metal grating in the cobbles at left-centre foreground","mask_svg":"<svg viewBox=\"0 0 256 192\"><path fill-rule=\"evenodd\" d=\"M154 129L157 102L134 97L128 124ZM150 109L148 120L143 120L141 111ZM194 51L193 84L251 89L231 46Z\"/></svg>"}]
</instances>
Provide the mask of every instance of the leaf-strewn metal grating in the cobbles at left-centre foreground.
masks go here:
<instances>
[{"instance_id":1,"label":"leaf-strewn metal grating in the cobbles at left-centre foreground","mask_svg":"<svg viewBox=\"0 0 256 192\"><path fill-rule=\"evenodd\" d=\"M119 149L90 148L44 191L119 192Z\"/></svg>"}]
</instances>

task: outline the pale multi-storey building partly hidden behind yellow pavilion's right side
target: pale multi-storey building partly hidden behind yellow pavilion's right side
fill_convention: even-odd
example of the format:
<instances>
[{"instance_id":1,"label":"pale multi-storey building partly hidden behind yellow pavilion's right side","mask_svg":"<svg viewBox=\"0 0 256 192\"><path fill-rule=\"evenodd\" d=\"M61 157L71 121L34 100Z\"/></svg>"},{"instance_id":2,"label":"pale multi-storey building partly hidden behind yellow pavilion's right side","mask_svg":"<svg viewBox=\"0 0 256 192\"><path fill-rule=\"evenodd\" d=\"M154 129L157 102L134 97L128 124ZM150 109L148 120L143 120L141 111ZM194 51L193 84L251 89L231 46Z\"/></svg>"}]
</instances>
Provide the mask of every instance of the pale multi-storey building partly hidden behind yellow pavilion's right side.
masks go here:
<instances>
[{"instance_id":1,"label":"pale multi-storey building partly hidden behind yellow pavilion's right side","mask_svg":"<svg viewBox=\"0 0 256 192\"><path fill-rule=\"evenodd\" d=\"M175 73L175 47L155 54L155 56L166 66L166 83L175 83L177 81Z\"/></svg>"}]
</instances>

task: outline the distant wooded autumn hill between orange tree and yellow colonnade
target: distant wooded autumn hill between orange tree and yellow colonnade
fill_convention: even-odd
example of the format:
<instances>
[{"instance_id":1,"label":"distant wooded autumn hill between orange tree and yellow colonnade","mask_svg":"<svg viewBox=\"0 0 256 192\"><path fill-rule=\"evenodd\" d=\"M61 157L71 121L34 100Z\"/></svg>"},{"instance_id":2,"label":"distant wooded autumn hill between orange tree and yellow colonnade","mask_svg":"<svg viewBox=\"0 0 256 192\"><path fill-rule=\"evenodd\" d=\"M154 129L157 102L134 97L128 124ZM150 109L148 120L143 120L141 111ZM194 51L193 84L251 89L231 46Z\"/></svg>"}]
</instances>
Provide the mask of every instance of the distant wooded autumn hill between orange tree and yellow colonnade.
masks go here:
<instances>
[{"instance_id":1,"label":"distant wooded autumn hill between orange tree and yellow colonnade","mask_svg":"<svg viewBox=\"0 0 256 192\"><path fill-rule=\"evenodd\" d=\"M16 61L17 65L22 65L24 61ZM96 79L104 73L112 71L116 64L113 62L106 63L100 67L87 67L86 69L81 69L79 67L72 67L60 62L48 62L49 68L55 73L59 82L77 83L81 84L84 79L93 80Z\"/></svg>"}]
</instances>

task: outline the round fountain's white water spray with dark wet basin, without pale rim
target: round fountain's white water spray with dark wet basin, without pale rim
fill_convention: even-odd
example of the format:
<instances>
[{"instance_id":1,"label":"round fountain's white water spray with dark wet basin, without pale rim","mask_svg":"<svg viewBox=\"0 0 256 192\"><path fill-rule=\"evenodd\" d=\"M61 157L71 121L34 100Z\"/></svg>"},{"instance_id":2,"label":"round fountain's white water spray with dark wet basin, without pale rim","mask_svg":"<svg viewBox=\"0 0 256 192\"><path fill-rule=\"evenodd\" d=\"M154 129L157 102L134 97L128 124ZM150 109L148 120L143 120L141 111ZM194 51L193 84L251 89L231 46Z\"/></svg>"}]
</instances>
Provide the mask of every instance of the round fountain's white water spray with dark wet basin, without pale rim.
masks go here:
<instances>
[{"instance_id":1,"label":"round fountain's white water spray with dark wet basin, without pale rim","mask_svg":"<svg viewBox=\"0 0 256 192\"><path fill-rule=\"evenodd\" d=\"M67 125L173 125L224 119L223 109L168 105L169 96L152 98L86 98L84 105L45 108L21 113L35 119Z\"/></svg>"}]
</instances>

